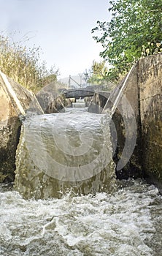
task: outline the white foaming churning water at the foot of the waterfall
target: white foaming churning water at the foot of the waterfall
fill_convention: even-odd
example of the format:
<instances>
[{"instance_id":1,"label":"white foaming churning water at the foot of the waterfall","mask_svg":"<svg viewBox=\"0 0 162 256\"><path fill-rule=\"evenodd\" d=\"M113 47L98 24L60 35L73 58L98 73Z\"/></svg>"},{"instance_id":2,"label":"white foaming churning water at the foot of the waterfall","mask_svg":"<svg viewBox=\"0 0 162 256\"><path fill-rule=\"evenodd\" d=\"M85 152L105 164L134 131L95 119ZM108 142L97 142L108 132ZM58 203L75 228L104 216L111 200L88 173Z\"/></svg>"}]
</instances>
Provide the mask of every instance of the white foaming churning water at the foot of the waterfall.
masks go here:
<instances>
[{"instance_id":1,"label":"white foaming churning water at the foot of the waterfall","mask_svg":"<svg viewBox=\"0 0 162 256\"><path fill-rule=\"evenodd\" d=\"M142 180L105 192L24 200L1 185L2 256L161 256L162 197Z\"/></svg>"}]
</instances>

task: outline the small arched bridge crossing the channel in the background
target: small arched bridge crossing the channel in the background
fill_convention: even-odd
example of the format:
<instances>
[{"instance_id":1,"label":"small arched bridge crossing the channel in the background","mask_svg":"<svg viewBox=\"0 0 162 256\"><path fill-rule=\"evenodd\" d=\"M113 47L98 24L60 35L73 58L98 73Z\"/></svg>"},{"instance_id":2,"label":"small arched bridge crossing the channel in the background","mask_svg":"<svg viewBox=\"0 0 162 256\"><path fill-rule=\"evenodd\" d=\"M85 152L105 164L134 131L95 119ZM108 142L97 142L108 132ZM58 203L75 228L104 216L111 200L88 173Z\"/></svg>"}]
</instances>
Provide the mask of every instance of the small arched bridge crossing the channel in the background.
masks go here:
<instances>
[{"instance_id":1,"label":"small arched bridge crossing the channel in the background","mask_svg":"<svg viewBox=\"0 0 162 256\"><path fill-rule=\"evenodd\" d=\"M94 89L87 89L87 88L71 89L71 90L63 91L63 94L65 95L66 98L76 98L76 99L93 96L94 93L95 93Z\"/></svg>"}]
</instances>

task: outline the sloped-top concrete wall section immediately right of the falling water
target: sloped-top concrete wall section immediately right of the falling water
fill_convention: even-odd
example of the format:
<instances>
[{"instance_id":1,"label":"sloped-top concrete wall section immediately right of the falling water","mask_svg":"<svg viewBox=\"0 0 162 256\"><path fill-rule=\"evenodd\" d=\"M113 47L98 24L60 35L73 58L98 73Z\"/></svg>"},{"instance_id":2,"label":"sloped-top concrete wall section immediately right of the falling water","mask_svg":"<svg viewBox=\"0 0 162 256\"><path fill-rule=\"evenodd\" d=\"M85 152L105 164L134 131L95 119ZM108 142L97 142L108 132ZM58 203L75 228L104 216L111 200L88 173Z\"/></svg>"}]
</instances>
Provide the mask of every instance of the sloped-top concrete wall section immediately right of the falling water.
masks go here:
<instances>
[{"instance_id":1,"label":"sloped-top concrete wall section immediately right of the falling water","mask_svg":"<svg viewBox=\"0 0 162 256\"><path fill-rule=\"evenodd\" d=\"M143 176L141 166L141 126L139 111L138 64L112 91L103 113L112 115L113 159L117 178Z\"/></svg>"}]
</instances>

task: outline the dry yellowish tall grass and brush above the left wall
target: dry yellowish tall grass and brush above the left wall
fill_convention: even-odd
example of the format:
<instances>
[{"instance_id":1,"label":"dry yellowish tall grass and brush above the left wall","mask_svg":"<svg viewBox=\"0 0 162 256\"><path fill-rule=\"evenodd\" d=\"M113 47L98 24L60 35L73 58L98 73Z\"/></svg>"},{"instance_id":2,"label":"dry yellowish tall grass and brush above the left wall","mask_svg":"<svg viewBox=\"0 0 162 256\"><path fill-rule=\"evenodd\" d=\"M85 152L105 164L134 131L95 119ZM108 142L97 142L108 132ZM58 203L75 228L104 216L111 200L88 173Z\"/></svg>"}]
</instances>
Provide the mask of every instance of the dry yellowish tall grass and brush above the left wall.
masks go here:
<instances>
[{"instance_id":1,"label":"dry yellowish tall grass and brush above the left wall","mask_svg":"<svg viewBox=\"0 0 162 256\"><path fill-rule=\"evenodd\" d=\"M12 42L0 34L0 69L26 89L37 92L48 83L57 80L58 69L47 69L39 61L40 48L26 48L20 42Z\"/></svg>"}]
</instances>

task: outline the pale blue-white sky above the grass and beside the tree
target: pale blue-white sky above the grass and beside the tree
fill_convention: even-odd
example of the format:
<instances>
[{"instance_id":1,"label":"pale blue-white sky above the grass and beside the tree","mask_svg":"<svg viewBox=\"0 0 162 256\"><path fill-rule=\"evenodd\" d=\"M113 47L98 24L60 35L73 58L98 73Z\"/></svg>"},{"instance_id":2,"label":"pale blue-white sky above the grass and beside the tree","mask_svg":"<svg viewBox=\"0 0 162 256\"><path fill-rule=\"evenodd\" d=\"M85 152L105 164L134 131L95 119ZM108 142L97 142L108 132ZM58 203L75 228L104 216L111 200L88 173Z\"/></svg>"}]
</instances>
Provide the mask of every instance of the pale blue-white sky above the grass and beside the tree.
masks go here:
<instances>
[{"instance_id":1,"label":"pale blue-white sky above the grass and beside the tree","mask_svg":"<svg viewBox=\"0 0 162 256\"><path fill-rule=\"evenodd\" d=\"M101 60L91 29L109 20L108 8L109 0L0 0L0 31L14 40L28 34L29 45L40 46L47 67L55 65L64 78Z\"/></svg>"}]
</instances>

